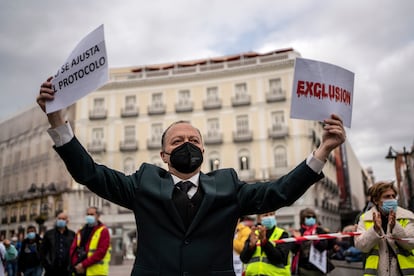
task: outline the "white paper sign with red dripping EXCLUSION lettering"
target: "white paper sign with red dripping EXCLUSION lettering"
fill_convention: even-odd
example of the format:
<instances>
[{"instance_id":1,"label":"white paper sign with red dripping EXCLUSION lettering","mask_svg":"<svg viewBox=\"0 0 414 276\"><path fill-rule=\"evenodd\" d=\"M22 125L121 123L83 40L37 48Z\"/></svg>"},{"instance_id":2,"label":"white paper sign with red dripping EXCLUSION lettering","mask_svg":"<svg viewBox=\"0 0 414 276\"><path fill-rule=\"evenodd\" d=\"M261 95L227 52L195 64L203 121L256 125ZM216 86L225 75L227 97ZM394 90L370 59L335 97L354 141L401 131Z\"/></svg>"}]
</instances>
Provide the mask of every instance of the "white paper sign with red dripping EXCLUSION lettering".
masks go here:
<instances>
[{"instance_id":1,"label":"white paper sign with red dripping EXCLUSION lettering","mask_svg":"<svg viewBox=\"0 0 414 276\"><path fill-rule=\"evenodd\" d=\"M351 127L354 73L333 64L296 58L290 117L323 121L337 114Z\"/></svg>"}]
</instances>

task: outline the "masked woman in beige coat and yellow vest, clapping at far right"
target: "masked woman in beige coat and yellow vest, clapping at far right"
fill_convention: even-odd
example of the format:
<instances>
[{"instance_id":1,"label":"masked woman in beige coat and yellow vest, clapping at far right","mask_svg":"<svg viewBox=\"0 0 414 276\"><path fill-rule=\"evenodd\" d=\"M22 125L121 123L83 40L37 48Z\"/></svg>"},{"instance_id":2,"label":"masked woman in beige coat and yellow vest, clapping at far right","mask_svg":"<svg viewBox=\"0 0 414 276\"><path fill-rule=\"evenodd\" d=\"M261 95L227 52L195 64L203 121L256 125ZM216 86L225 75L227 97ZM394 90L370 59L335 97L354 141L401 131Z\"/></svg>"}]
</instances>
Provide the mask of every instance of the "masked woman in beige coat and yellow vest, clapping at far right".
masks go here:
<instances>
[{"instance_id":1,"label":"masked woman in beige coat and yellow vest, clapping at far right","mask_svg":"<svg viewBox=\"0 0 414 276\"><path fill-rule=\"evenodd\" d=\"M359 218L355 247L366 254L364 275L413 275L414 214L398 206L393 182L368 189L373 207Z\"/></svg>"}]
</instances>

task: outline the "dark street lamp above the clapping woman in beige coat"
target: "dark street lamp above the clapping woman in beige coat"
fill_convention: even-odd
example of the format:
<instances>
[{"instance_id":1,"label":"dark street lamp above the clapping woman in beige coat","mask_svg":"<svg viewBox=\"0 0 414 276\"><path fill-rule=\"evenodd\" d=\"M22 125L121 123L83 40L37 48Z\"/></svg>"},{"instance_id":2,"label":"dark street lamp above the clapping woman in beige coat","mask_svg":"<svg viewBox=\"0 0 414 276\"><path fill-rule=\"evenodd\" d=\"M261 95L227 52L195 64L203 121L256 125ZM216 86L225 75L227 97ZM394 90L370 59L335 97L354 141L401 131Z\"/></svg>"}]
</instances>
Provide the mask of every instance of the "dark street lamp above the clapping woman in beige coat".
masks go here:
<instances>
[{"instance_id":1,"label":"dark street lamp above the clapping woman in beige coat","mask_svg":"<svg viewBox=\"0 0 414 276\"><path fill-rule=\"evenodd\" d=\"M400 183L401 183L401 173L400 169L402 164L404 164L404 179L407 179L407 186L408 186L408 209L414 211L414 193L413 193L413 186L412 186L412 179L411 179L411 164L408 156L410 156L412 152L408 152L403 147L403 152L398 152L394 150L391 146L388 149L388 154L385 156L385 159L394 159L395 164L395 173L396 179L398 184L398 190L400 191Z\"/></svg>"}]
</instances>

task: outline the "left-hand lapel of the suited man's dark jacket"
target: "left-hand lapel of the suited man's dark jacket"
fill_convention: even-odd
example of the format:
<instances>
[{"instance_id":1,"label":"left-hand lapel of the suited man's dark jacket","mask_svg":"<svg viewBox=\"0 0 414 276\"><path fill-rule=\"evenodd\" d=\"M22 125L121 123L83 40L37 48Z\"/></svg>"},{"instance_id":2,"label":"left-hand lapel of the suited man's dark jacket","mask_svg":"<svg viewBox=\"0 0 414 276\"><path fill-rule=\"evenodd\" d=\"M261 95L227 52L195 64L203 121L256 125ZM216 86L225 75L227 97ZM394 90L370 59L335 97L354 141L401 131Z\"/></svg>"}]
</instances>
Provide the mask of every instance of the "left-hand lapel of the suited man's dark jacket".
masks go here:
<instances>
[{"instance_id":1,"label":"left-hand lapel of the suited man's dark jacket","mask_svg":"<svg viewBox=\"0 0 414 276\"><path fill-rule=\"evenodd\" d=\"M184 222L181 219L180 214L175 207L174 201L172 200L172 193L174 189L174 183L172 181L171 176L162 178L160 183L160 193L161 193L161 200L164 203L164 207L167 213L169 213L170 217L177 224L178 228L185 231Z\"/></svg>"}]
</instances>

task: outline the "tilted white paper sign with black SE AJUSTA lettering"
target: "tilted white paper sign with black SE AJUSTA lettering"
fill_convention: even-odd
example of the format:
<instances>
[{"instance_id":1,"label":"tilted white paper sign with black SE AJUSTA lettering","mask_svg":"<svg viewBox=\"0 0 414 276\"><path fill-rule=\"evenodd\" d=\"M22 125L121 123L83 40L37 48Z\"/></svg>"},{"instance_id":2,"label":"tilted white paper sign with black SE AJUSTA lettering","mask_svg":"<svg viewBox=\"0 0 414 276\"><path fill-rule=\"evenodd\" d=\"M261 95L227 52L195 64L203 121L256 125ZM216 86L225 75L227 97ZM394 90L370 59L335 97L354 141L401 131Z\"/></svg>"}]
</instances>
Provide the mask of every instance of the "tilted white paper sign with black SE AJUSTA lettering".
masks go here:
<instances>
[{"instance_id":1,"label":"tilted white paper sign with black SE AJUSTA lettering","mask_svg":"<svg viewBox=\"0 0 414 276\"><path fill-rule=\"evenodd\" d=\"M108 58L101 25L79 42L53 77L55 99L46 102L46 113L68 107L107 81Z\"/></svg>"}]
</instances>

